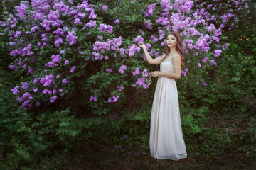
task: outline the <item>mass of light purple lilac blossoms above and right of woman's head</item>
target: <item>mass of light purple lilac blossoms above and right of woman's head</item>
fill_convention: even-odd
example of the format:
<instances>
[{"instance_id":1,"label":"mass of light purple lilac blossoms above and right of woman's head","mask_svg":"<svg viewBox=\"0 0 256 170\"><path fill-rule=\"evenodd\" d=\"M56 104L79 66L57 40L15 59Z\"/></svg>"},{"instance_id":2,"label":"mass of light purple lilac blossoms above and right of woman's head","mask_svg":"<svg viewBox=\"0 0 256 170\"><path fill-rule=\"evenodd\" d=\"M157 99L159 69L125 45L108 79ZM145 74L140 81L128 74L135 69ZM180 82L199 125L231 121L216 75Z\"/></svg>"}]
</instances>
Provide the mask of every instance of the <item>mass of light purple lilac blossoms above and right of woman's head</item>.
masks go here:
<instances>
[{"instance_id":1,"label":"mass of light purple lilac blossoms above and right of woman's head","mask_svg":"<svg viewBox=\"0 0 256 170\"><path fill-rule=\"evenodd\" d=\"M245 1L228 1L228 6L235 6L238 7L242 5ZM233 10L230 9L223 16L220 16L222 19L222 23L220 23L220 27L213 23L207 25L206 21L217 21L214 15L207 11L208 8L220 9L223 5L222 3L218 4L213 1L213 4L204 7L206 2L202 2L199 5L196 5L196 9L192 10L193 1L191 0L183 0L183 1L175 1L171 3L170 1L161 0L161 8L162 13L161 17L156 20L156 23L160 23L161 27L159 27L159 40L164 38L163 30L169 31L174 30L178 31L185 37L183 40L183 46L185 47L185 53L188 52L187 47L190 50L199 50L201 52L208 52L210 50L209 45L215 41L217 44L220 42L220 35L222 29L225 26L230 26L228 21L230 18L235 18L233 14ZM200 8L198 8L200 7ZM176 12L174 12L176 11ZM239 20L235 18L235 22ZM203 34L198 27L198 25L205 26L205 30L208 31L208 34ZM231 24L233 26L233 23ZM163 30L161 30L163 29ZM199 36L199 38L194 38L194 36ZM154 38L156 41L156 38ZM161 45L164 44L163 42ZM226 47L227 48L227 47ZM215 52L215 57L220 55L219 51Z\"/></svg>"}]
</instances>

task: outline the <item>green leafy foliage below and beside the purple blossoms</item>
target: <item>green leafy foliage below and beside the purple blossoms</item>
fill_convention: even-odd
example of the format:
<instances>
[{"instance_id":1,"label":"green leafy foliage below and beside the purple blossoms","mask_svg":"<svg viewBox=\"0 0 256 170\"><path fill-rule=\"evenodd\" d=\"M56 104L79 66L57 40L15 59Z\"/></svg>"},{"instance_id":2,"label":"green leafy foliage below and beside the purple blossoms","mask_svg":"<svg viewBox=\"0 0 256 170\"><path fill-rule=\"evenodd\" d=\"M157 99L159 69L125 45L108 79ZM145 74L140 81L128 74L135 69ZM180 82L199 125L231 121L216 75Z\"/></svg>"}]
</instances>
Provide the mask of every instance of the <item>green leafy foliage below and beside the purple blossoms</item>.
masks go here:
<instances>
[{"instance_id":1,"label":"green leafy foliage below and beside the purple blossoms","mask_svg":"<svg viewBox=\"0 0 256 170\"><path fill-rule=\"evenodd\" d=\"M122 20L114 29L114 34L122 34L124 47L131 45L132 39L140 34L138 29L144 23L142 13L138 10L142 6L131 4L131 1L122 1L119 6L117 1L106 2L116 13L115 16ZM145 4L153 2L155 1L147 1ZM143 10L145 9L146 5L143 6ZM98 23L110 22L109 13L101 11L100 8L97 13ZM127 13L132 14L129 16ZM159 11L156 10L155 13ZM245 154L242 159L248 164L256 164L255 13L246 14L240 11L240 15L244 17L238 27L226 30L222 35L229 43L229 48L218 57L218 65L209 67L208 61L198 69L196 64L201 62L200 57L188 55L186 60L191 61L186 63L188 76L176 80L183 136L192 162L197 157L208 159L227 153L231 156L242 153ZM154 21L154 16L151 16L151 20ZM154 24L153 28L156 28ZM153 30L145 30L144 33L151 35L154 34ZM81 46L92 48L92 40L97 38L98 32L92 31L91 37L86 40L83 39L83 34L84 32L78 33ZM101 35L114 38L107 33ZM28 79L23 72L11 74L7 70L6 66L13 61L9 57L7 41L8 36L0 36L0 169L32 169L32 166L38 169L38 164L47 165L46 169L54 169L55 164L48 165L47 157L50 160L58 157L58 154L69 154L73 150L80 152L81 147L90 153L92 147L100 147L102 144L112 148L121 146L122 149L118 152L122 156L131 150L139 149L148 154L151 101L156 79L152 79L153 86L150 86L148 91L139 88L134 91L135 88L130 87L132 84L129 80L133 79L135 82L136 77L132 77L132 74L112 76L111 73L105 72L105 69L112 68L118 72L124 63L128 66L127 72L132 72L135 65L142 65L143 69L149 70L159 69L159 66L144 67L145 62L141 57L133 61L130 61L130 58L119 58L108 62L87 63L81 62L78 57L73 56L72 51L68 51L64 60L70 59L82 64L78 67L79 72L68 76L70 81L76 81L68 85L66 101L60 100L54 104L42 102L36 109L23 111L17 106L16 96L11 95L11 87L18 85L18 79ZM35 47L33 50L38 49ZM52 53L47 48L41 52L46 58ZM87 55L81 57L85 60L89 55L91 53L87 52ZM40 62L46 60L43 57ZM65 72L69 72L69 69L66 68ZM43 77L43 74L39 76ZM208 86L204 87L203 82L207 82ZM119 93L116 84L127 88ZM107 97L103 96L115 94L120 95L119 103L104 106ZM92 95L97 95L102 100L97 103L89 101ZM240 116L248 122L245 132L211 128L208 124L215 120L209 120L209 117L217 113L229 118Z\"/></svg>"}]
</instances>

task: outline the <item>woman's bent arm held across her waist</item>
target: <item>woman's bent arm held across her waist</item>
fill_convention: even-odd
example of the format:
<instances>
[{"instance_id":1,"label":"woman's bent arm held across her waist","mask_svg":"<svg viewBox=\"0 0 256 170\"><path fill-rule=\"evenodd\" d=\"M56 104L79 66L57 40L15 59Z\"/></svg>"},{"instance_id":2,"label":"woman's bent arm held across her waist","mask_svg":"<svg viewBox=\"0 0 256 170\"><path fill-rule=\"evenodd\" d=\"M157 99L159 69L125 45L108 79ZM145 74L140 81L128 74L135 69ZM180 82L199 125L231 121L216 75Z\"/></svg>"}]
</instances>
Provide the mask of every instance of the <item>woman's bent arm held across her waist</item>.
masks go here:
<instances>
[{"instance_id":1,"label":"woman's bent arm held across her waist","mask_svg":"<svg viewBox=\"0 0 256 170\"><path fill-rule=\"evenodd\" d=\"M151 72L152 77L163 76L169 79L180 79L181 78L181 55L179 54L174 55L173 61L174 61L174 73L155 71L155 72Z\"/></svg>"}]
</instances>

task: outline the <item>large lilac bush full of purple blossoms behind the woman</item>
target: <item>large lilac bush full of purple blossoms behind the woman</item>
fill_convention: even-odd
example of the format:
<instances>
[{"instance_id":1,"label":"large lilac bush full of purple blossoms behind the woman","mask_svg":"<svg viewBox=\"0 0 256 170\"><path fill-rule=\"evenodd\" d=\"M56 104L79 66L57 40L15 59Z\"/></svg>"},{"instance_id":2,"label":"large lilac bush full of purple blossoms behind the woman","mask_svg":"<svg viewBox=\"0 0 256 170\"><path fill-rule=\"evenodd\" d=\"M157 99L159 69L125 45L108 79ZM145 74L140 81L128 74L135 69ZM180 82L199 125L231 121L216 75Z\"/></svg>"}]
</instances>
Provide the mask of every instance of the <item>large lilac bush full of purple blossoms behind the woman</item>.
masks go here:
<instances>
[{"instance_id":1,"label":"large lilac bush full of purple blossoms behind the woman","mask_svg":"<svg viewBox=\"0 0 256 170\"><path fill-rule=\"evenodd\" d=\"M159 57L171 30L183 38L187 62L182 81L186 77L196 84L218 66L228 48L222 32L239 21L236 11L250 12L247 1L21 1L14 14L5 12L0 21L14 59L8 67L24 76L11 92L23 108L30 108L72 96L74 85L80 84L82 95L90 98L85 104L104 113L130 88L149 88L153 67L137 42Z\"/></svg>"}]
</instances>

